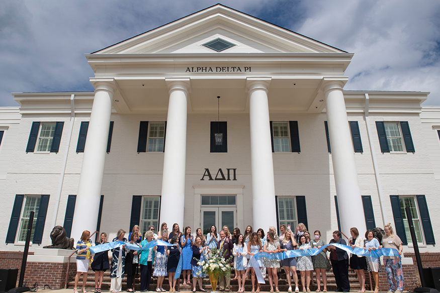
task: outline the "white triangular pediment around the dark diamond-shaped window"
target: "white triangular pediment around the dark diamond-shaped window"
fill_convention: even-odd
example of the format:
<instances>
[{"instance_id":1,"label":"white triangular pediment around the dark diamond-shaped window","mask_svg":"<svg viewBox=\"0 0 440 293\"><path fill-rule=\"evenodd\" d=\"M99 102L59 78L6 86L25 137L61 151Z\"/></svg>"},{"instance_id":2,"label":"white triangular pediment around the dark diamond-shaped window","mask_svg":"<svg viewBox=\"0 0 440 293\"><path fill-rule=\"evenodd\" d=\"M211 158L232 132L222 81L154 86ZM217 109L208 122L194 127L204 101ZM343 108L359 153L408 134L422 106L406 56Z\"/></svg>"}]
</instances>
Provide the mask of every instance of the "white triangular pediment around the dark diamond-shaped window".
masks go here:
<instances>
[{"instance_id":1,"label":"white triangular pediment around the dark diamond-shaped window","mask_svg":"<svg viewBox=\"0 0 440 293\"><path fill-rule=\"evenodd\" d=\"M233 44L221 53L344 52L217 4L93 54L218 54L204 46L216 39Z\"/></svg>"}]
</instances>

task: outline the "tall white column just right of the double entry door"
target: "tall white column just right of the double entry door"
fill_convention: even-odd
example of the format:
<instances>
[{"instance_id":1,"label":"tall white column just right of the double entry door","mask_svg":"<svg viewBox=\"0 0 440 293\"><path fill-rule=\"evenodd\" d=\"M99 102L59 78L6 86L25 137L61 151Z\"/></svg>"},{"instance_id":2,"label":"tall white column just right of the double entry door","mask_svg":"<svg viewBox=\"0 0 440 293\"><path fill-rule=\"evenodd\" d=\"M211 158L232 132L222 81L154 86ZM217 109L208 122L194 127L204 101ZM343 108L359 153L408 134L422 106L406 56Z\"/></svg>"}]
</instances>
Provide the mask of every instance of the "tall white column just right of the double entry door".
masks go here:
<instances>
[{"instance_id":1,"label":"tall white column just right of the double entry door","mask_svg":"<svg viewBox=\"0 0 440 293\"><path fill-rule=\"evenodd\" d=\"M250 158L253 227L277 226L274 163L269 120L268 87L271 79L247 79L249 90Z\"/></svg>"}]
</instances>

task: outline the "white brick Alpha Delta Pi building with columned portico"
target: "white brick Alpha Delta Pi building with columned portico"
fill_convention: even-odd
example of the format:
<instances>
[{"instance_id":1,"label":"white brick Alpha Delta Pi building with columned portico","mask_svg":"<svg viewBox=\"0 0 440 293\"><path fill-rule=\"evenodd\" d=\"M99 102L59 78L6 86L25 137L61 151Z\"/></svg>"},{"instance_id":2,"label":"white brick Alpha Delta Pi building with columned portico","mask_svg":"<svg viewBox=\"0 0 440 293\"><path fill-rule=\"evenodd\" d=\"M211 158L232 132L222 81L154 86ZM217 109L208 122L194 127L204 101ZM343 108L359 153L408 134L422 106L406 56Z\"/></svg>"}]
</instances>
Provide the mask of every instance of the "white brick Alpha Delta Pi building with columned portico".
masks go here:
<instances>
[{"instance_id":1,"label":"white brick Alpha Delta Pi building with columned portico","mask_svg":"<svg viewBox=\"0 0 440 293\"><path fill-rule=\"evenodd\" d=\"M95 92L13 93L0 250L22 249L32 209L31 250L55 225L305 222L329 240L391 222L402 237L411 206L420 250L440 252L440 109L427 92L343 91L351 57L216 5L86 54Z\"/></svg>"}]
</instances>

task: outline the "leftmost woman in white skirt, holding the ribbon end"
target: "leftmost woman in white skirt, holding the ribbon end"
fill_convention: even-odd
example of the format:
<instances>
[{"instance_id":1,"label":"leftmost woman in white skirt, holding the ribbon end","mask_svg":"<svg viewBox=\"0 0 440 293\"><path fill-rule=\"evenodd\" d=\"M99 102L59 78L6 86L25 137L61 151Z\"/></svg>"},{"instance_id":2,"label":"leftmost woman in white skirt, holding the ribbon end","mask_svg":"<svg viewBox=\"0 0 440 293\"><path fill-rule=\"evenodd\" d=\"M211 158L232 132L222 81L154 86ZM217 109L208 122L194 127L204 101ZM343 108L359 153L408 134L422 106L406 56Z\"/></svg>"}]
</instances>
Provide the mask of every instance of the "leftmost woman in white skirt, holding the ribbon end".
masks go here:
<instances>
[{"instance_id":1,"label":"leftmost woman in white skirt, holding the ribbon end","mask_svg":"<svg viewBox=\"0 0 440 293\"><path fill-rule=\"evenodd\" d=\"M95 234L95 232L93 232ZM92 234L93 235L93 234ZM85 293L85 282L87 281L87 272L89 271L90 263L90 251L92 247L92 241L90 240L90 231L84 230L81 235L81 239L76 243L76 275L75 275L75 287L73 287L74 293L78 293L76 289L78 286L79 276L82 273L82 292Z\"/></svg>"}]
</instances>

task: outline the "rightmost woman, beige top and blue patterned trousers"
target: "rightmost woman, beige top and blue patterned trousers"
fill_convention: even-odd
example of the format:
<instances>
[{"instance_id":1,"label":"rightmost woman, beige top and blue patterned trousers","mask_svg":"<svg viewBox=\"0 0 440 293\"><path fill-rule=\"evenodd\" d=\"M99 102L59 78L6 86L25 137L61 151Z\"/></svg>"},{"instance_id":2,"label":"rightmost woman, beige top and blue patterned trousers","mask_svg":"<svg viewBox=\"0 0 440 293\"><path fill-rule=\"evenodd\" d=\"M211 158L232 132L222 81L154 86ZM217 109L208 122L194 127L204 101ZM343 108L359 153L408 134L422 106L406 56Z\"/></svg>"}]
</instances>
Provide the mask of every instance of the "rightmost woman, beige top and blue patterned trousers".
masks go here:
<instances>
[{"instance_id":1,"label":"rightmost woman, beige top and blue patterned trousers","mask_svg":"<svg viewBox=\"0 0 440 293\"><path fill-rule=\"evenodd\" d=\"M402 240L399 236L394 235L393 228L391 224L388 223L384 227L385 237L382 238L382 245L379 248L394 248L397 249L399 255L402 255L403 246ZM403 271L402 263L400 257L396 256L385 256L384 255L385 270L387 271L388 286L390 291L395 293L403 292Z\"/></svg>"}]
</instances>

